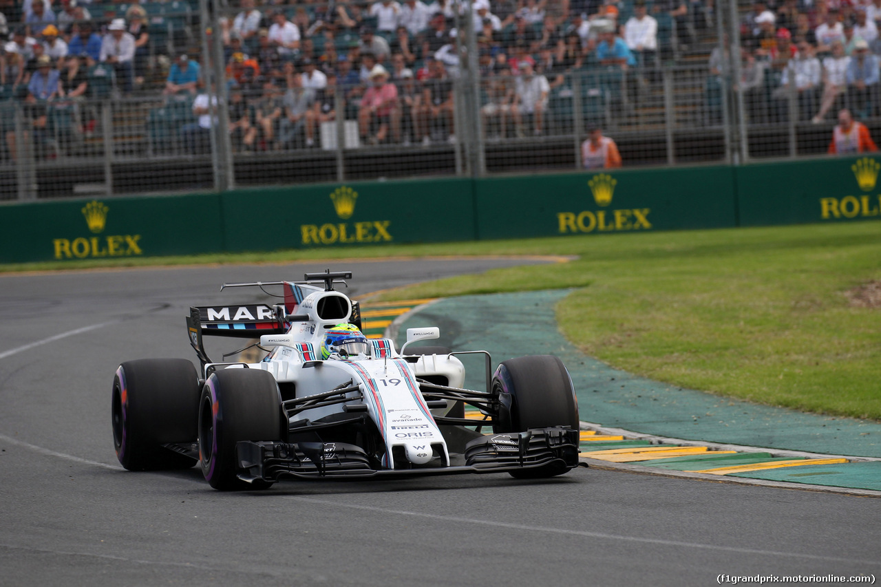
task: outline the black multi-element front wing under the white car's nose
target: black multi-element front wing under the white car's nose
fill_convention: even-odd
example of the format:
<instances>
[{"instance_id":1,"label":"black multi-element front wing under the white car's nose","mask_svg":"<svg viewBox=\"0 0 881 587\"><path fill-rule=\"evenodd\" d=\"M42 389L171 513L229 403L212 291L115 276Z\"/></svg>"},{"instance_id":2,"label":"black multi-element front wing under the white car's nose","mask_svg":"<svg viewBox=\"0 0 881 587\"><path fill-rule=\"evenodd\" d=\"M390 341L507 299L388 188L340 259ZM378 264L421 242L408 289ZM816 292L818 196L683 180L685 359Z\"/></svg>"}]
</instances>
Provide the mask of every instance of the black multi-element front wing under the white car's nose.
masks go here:
<instances>
[{"instance_id":1,"label":"black multi-element front wing under the white car's nose","mask_svg":"<svg viewBox=\"0 0 881 587\"><path fill-rule=\"evenodd\" d=\"M579 464L578 443L578 430L567 427L483 435L468 442L463 455L451 456L450 466L406 463L406 468L395 469L374 468L364 450L344 442L238 442L236 458L238 477L248 482L275 482L285 477L450 475L510 472L548 465L572 469Z\"/></svg>"}]
</instances>

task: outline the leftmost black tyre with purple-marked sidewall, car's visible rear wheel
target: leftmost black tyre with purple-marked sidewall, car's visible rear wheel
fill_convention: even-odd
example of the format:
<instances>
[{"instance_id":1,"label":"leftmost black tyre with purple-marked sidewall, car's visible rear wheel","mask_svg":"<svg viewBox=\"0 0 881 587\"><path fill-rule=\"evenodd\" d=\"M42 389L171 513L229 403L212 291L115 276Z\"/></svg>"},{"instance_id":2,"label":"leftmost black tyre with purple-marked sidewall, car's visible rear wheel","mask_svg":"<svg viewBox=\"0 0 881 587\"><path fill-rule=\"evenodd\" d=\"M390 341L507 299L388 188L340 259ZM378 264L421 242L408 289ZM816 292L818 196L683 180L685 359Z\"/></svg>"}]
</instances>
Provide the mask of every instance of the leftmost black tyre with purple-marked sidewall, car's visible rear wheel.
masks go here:
<instances>
[{"instance_id":1,"label":"leftmost black tyre with purple-marked sidewall, car's visible rear wheel","mask_svg":"<svg viewBox=\"0 0 881 587\"><path fill-rule=\"evenodd\" d=\"M185 359L129 360L116 369L111 418L116 457L129 471L188 469L196 459L164 444L196 442L199 380Z\"/></svg>"}]
</instances>

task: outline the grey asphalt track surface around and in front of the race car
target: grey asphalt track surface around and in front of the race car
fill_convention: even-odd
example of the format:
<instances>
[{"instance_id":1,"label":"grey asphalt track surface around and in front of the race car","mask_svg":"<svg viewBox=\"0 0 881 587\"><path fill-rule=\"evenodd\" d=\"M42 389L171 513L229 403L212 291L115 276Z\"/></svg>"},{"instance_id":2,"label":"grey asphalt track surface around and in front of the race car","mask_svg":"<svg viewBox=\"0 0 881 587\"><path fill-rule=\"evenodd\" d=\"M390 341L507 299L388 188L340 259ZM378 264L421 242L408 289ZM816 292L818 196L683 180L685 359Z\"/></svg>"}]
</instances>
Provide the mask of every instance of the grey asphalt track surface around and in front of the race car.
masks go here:
<instances>
[{"instance_id":1,"label":"grey asphalt track surface around and in front of the race car","mask_svg":"<svg viewBox=\"0 0 881 587\"><path fill-rule=\"evenodd\" d=\"M355 297L522 261L334 263ZM316 264L0 277L0 585L707 585L881 578L881 499L578 469L300 482L220 493L196 469L125 472L119 362L195 359L189 305ZM528 320L524 317L524 320ZM211 353L211 347L209 348Z\"/></svg>"}]
</instances>

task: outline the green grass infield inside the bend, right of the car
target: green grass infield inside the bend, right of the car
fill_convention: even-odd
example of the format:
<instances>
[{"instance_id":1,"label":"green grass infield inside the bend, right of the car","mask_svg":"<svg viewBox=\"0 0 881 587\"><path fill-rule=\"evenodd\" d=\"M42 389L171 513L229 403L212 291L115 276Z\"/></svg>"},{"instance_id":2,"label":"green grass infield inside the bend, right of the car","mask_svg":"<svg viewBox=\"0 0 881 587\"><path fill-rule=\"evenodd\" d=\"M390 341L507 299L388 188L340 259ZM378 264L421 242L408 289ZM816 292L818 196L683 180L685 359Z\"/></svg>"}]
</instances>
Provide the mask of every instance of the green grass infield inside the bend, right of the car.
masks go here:
<instances>
[{"instance_id":1,"label":"green grass infield inside the bend, right of the car","mask_svg":"<svg viewBox=\"0 0 881 587\"><path fill-rule=\"evenodd\" d=\"M445 279L395 295L587 286L560 302L560 330L617 368L771 405L881 420L881 308L852 307L845 295L881 279L879 223L506 248L580 258Z\"/></svg>"}]
</instances>

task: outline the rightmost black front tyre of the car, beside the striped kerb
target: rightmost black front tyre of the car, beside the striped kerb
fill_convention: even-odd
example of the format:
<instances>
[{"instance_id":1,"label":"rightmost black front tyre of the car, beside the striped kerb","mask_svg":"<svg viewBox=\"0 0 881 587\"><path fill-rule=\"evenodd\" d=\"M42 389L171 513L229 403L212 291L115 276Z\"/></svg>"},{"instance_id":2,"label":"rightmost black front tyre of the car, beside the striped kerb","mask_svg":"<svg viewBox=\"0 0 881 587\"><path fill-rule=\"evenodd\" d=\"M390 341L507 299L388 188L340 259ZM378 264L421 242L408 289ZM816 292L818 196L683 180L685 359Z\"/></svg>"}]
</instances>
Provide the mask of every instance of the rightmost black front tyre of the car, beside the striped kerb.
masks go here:
<instances>
[{"instance_id":1,"label":"rightmost black front tyre of the car, beside the striped kerb","mask_svg":"<svg viewBox=\"0 0 881 587\"><path fill-rule=\"evenodd\" d=\"M499 398L493 432L526 432L530 428L579 428L578 400L572 378L559 357L539 355L504 360L492 375ZM512 471L517 479L543 479L568 471L565 464Z\"/></svg>"}]
</instances>

